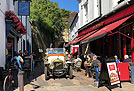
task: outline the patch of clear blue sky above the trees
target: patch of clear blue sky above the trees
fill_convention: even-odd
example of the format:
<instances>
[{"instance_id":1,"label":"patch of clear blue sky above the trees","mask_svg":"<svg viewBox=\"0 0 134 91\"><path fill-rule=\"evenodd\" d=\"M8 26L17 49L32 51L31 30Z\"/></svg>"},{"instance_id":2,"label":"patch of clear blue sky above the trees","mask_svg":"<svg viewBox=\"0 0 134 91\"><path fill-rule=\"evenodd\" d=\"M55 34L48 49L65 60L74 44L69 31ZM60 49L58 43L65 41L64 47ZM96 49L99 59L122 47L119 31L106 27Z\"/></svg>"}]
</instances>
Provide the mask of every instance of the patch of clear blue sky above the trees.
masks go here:
<instances>
[{"instance_id":1,"label":"patch of clear blue sky above the trees","mask_svg":"<svg viewBox=\"0 0 134 91\"><path fill-rule=\"evenodd\" d=\"M71 12L79 12L79 2L77 0L50 0L52 2L58 2L61 9L70 10Z\"/></svg>"}]
</instances>

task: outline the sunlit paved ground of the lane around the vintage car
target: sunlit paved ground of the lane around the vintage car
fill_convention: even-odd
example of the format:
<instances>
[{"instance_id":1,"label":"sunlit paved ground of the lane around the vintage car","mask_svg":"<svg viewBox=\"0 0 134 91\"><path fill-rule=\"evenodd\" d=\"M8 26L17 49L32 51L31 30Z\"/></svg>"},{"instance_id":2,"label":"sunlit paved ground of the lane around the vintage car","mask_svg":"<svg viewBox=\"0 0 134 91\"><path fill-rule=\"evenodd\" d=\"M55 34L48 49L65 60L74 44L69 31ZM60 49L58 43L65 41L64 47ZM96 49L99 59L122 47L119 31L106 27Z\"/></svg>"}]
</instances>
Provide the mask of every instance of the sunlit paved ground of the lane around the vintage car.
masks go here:
<instances>
[{"instance_id":1,"label":"sunlit paved ground of the lane around the vintage car","mask_svg":"<svg viewBox=\"0 0 134 91\"><path fill-rule=\"evenodd\" d=\"M44 67L38 65L34 74L31 74L30 79L24 78L25 86L24 91L108 91L108 88L102 86L97 88L94 85L94 79L84 76L84 70L81 72L73 71L74 78L56 78L55 80L50 77L49 80L45 80ZM34 79L37 78L37 79ZM112 91L134 91L134 84L130 82L122 82L122 88L115 87ZM19 91L16 89L14 91Z\"/></svg>"}]
</instances>

